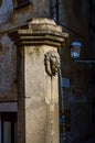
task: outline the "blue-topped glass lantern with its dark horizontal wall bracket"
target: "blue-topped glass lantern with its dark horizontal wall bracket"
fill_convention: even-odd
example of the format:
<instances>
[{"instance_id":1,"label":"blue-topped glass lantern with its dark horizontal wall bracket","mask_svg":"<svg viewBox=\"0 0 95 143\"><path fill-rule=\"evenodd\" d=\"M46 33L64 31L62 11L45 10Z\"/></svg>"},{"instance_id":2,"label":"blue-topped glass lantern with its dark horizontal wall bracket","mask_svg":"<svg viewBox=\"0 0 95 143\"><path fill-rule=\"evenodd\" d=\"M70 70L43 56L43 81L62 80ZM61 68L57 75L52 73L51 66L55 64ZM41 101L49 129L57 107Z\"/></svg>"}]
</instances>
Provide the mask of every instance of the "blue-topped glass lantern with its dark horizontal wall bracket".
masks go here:
<instances>
[{"instance_id":1,"label":"blue-topped glass lantern with its dark horizontal wall bracket","mask_svg":"<svg viewBox=\"0 0 95 143\"><path fill-rule=\"evenodd\" d=\"M81 48L82 48L82 43L77 40L73 41L71 43L71 57L74 59L74 62L77 63L84 63L84 64L95 64L95 61L91 61L91 59L78 59L81 56Z\"/></svg>"}]
</instances>

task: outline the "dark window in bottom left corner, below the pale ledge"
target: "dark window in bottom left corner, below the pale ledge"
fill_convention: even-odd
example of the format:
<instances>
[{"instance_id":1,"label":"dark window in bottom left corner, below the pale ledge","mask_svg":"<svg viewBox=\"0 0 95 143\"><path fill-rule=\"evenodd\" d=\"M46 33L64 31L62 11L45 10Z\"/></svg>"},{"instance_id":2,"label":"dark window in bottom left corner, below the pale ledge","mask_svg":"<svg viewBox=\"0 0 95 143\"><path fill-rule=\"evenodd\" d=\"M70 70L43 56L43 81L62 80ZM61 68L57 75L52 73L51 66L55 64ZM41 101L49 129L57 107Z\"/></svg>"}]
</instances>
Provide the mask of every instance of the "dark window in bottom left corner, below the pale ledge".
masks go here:
<instances>
[{"instance_id":1,"label":"dark window in bottom left corner, below the pale ledge","mask_svg":"<svg viewBox=\"0 0 95 143\"><path fill-rule=\"evenodd\" d=\"M17 113L1 113L1 143L17 143Z\"/></svg>"}]
</instances>

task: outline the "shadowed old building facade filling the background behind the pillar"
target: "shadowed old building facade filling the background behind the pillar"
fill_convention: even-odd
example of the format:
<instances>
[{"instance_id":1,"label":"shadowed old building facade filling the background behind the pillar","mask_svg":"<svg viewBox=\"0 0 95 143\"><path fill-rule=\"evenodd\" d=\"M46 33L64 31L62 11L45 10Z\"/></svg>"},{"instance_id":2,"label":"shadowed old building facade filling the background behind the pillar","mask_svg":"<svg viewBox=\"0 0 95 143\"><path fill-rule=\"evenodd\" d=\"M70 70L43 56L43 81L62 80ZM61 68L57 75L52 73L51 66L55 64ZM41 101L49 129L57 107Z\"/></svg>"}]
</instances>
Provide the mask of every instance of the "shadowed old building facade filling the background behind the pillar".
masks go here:
<instances>
[{"instance_id":1,"label":"shadowed old building facade filling the background behind the pillar","mask_svg":"<svg viewBox=\"0 0 95 143\"><path fill-rule=\"evenodd\" d=\"M21 94L18 90L20 86L18 73L23 68L18 67L18 61L23 55L17 54L15 41L18 36L14 37L14 34L11 35L11 33L19 29L25 29L33 18L53 19L57 25L63 28L63 32L68 33L66 43L60 50L62 81L67 81L67 86L62 84L63 91L60 92L60 98L63 97L60 100L64 102L64 112L62 111L62 101L60 101L59 119L65 114L67 120L59 123L61 142L64 140L67 143L82 143L93 138L92 134L95 130L93 128L95 125L95 67L91 63L91 65L75 63L71 58L68 47L71 42L77 38L83 45L81 59L95 58L94 6L94 0L1 0L0 143L17 143L20 138L19 129L17 129L18 102ZM21 128L23 131L23 127ZM64 139L62 139L63 136Z\"/></svg>"}]
</instances>

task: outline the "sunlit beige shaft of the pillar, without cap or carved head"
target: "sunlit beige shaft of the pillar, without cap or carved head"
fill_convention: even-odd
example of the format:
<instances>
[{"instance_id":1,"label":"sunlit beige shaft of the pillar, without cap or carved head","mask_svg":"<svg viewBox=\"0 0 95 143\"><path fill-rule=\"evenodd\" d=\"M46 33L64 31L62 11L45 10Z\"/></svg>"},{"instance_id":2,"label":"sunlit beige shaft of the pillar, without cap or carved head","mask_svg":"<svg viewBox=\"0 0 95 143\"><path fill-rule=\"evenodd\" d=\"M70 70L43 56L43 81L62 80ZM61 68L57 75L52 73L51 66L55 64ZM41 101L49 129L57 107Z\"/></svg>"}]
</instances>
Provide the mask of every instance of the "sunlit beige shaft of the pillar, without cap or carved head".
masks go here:
<instances>
[{"instance_id":1,"label":"sunlit beige shaft of the pillar, without cap or carved head","mask_svg":"<svg viewBox=\"0 0 95 143\"><path fill-rule=\"evenodd\" d=\"M45 143L45 142L59 142L59 120L57 114L57 101L54 103L53 117L51 117L51 96L59 96L57 91L57 78L54 78L54 85L51 85L51 77L45 73L44 67L44 54L50 50L54 50L52 46L40 46L36 51L36 46L31 47L32 54L28 54L28 47L25 51L25 133L27 142L31 143ZM48 82L49 80L49 82ZM52 87L51 87L52 86ZM51 92L55 90L53 95ZM48 98L50 103L46 102ZM54 97L52 97L54 98ZM59 97L57 97L59 98ZM51 118L53 121L51 130ZM31 124L31 128L30 128ZM56 128L54 124L57 124ZM51 141L51 132L53 134L53 141ZM46 141L45 141L46 140Z\"/></svg>"}]
</instances>

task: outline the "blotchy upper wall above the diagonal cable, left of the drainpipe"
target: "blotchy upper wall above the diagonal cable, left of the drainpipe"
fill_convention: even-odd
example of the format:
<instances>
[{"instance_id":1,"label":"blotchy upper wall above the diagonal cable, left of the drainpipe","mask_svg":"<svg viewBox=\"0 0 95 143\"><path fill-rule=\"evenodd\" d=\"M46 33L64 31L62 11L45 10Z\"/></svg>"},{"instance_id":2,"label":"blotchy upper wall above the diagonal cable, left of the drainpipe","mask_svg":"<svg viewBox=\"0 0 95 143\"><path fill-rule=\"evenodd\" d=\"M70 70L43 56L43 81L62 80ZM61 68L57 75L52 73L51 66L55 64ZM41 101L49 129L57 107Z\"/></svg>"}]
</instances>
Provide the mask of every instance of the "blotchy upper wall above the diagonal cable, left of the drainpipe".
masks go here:
<instances>
[{"instance_id":1,"label":"blotchy upper wall above the diagonal cable, left of the drainpipe","mask_svg":"<svg viewBox=\"0 0 95 143\"><path fill-rule=\"evenodd\" d=\"M22 26L34 16L50 16L49 0L30 0L29 3L17 4L17 0L2 0L0 3L0 33Z\"/></svg>"}]
</instances>

